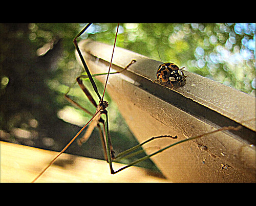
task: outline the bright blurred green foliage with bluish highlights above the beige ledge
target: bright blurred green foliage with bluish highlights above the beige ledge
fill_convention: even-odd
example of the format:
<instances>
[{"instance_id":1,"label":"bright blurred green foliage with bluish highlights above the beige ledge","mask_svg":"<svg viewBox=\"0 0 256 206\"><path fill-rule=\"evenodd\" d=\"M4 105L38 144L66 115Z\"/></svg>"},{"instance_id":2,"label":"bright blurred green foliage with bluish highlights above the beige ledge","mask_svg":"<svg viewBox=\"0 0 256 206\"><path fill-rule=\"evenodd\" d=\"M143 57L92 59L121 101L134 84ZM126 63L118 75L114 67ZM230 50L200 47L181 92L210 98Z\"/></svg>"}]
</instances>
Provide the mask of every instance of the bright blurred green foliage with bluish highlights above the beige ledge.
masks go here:
<instances>
[{"instance_id":1,"label":"bright blurred green foliage with bluish highlights above the beige ledge","mask_svg":"<svg viewBox=\"0 0 256 206\"><path fill-rule=\"evenodd\" d=\"M113 44L115 28L94 24L90 33ZM121 24L119 31L119 47L255 96L255 24Z\"/></svg>"}]
</instances>

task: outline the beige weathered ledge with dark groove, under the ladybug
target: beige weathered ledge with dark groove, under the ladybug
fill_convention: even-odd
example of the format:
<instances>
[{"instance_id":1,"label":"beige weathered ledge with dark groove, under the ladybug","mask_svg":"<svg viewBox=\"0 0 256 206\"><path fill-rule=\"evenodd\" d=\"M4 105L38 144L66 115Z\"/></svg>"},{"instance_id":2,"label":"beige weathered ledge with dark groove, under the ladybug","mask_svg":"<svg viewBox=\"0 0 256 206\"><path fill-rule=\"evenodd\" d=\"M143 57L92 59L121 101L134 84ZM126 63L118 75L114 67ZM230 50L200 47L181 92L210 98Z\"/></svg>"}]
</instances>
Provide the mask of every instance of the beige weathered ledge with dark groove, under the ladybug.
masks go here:
<instances>
[{"instance_id":1,"label":"beige weathered ledge with dark groove, under the ladybug","mask_svg":"<svg viewBox=\"0 0 256 206\"><path fill-rule=\"evenodd\" d=\"M91 73L108 71L113 46L83 40L79 47ZM145 147L162 148L222 126L243 125L239 131L217 132L152 157L162 173L175 182L255 182L255 98L186 71L185 85L164 87L153 82L162 62L121 48L115 49L112 68L121 70L133 59L136 63L127 71L110 75L108 93L139 142L178 135L177 140L155 140ZM98 77L103 83L105 78Z\"/></svg>"}]
</instances>

